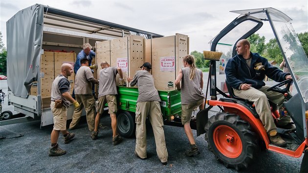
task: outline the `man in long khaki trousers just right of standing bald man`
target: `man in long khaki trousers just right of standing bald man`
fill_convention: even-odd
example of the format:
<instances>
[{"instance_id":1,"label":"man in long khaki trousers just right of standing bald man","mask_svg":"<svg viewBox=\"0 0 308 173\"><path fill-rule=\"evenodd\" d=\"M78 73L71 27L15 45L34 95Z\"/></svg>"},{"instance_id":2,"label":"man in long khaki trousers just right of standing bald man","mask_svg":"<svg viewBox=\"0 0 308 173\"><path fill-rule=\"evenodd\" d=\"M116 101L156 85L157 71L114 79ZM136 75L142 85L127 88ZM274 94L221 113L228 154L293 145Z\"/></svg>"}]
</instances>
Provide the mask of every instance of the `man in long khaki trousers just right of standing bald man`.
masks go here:
<instances>
[{"instance_id":1,"label":"man in long khaki trousers just right of standing bald man","mask_svg":"<svg viewBox=\"0 0 308 173\"><path fill-rule=\"evenodd\" d=\"M75 129L81 118L82 110L85 107L88 129L94 130L94 96L92 95L92 85L98 84L98 80L94 78L91 69L88 67L88 59L81 60L81 67L77 71L75 78L75 97L80 107L74 110L72 122L69 129Z\"/></svg>"}]
</instances>

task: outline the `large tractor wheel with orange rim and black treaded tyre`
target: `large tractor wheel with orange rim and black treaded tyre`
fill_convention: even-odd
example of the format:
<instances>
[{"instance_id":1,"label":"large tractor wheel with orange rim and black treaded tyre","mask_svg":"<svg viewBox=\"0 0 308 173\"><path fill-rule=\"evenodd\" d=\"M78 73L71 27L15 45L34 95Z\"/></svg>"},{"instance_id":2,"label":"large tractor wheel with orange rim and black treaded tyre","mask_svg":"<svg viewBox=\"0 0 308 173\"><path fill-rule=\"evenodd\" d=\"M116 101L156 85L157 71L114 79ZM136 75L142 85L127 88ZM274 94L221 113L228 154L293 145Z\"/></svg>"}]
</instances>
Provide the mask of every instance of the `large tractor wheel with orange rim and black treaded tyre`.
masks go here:
<instances>
[{"instance_id":1,"label":"large tractor wheel with orange rim and black treaded tyre","mask_svg":"<svg viewBox=\"0 0 308 173\"><path fill-rule=\"evenodd\" d=\"M247 168L257 153L257 137L250 124L231 113L218 113L206 124L205 140L208 149L226 168L239 171Z\"/></svg>"}]
</instances>

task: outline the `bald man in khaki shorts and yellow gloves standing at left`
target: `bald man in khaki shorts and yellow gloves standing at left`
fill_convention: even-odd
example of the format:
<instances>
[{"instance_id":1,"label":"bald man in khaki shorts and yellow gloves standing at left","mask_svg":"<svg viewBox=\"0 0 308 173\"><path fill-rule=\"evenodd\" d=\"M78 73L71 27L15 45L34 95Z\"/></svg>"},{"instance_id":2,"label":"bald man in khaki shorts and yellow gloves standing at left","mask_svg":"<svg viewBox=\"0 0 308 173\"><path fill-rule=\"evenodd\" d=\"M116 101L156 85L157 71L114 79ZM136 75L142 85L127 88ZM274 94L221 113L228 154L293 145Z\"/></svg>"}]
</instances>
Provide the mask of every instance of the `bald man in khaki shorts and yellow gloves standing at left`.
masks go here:
<instances>
[{"instance_id":1,"label":"bald man in khaki shorts and yellow gloves standing at left","mask_svg":"<svg viewBox=\"0 0 308 173\"><path fill-rule=\"evenodd\" d=\"M75 136L75 133L66 131L67 108L73 103L75 108L79 107L76 100L70 95L70 84L67 77L73 73L73 67L70 64L61 66L61 74L56 77L51 86L51 103L50 109L53 114L53 130L51 132L51 147L49 156L59 156L66 153L58 144L59 133L64 136L64 143L69 143Z\"/></svg>"}]
</instances>

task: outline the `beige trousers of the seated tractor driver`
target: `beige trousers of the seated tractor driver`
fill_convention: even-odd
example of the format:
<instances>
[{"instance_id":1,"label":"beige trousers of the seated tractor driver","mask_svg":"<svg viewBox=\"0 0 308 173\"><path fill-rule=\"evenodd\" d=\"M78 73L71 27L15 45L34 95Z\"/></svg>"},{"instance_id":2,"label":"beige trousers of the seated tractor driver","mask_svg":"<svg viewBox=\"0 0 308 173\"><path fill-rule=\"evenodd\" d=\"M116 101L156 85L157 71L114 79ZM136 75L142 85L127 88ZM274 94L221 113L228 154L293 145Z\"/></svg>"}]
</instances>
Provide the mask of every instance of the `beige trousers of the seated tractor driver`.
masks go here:
<instances>
[{"instance_id":1,"label":"beige trousers of the seated tractor driver","mask_svg":"<svg viewBox=\"0 0 308 173\"><path fill-rule=\"evenodd\" d=\"M267 99L278 106L280 106L285 99L285 96L282 93L266 91L269 87L271 86L262 86L260 89L254 87L250 87L247 90L233 89L234 95L254 103L256 111L259 114L260 120L267 133L277 130Z\"/></svg>"}]
</instances>

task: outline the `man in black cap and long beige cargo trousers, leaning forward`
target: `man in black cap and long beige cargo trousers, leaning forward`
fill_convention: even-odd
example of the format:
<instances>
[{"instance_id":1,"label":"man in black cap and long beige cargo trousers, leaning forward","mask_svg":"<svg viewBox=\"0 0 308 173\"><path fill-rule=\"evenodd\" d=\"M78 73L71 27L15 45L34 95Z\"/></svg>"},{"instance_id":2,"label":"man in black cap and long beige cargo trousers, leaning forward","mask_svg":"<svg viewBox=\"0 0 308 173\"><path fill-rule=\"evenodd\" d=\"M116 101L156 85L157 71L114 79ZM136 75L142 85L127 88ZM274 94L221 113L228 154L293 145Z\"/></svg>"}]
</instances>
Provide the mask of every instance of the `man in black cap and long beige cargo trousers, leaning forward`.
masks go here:
<instances>
[{"instance_id":1,"label":"man in black cap and long beige cargo trousers, leaning forward","mask_svg":"<svg viewBox=\"0 0 308 173\"><path fill-rule=\"evenodd\" d=\"M133 79L127 78L131 86L138 83L138 99L136 104L136 147L135 156L145 159L147 158L147 132L146 119L151 122L156 143L156 152L159 160L163 165L167 164L168 151L166 148L165 134L163 129L163 119L159 102L160 97L154 86L153 76L150 74L152 66L150 63L144 63L136 72Z\"/></svg>"}]
</instances>

